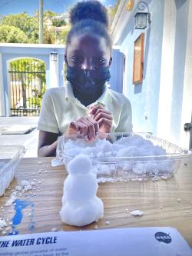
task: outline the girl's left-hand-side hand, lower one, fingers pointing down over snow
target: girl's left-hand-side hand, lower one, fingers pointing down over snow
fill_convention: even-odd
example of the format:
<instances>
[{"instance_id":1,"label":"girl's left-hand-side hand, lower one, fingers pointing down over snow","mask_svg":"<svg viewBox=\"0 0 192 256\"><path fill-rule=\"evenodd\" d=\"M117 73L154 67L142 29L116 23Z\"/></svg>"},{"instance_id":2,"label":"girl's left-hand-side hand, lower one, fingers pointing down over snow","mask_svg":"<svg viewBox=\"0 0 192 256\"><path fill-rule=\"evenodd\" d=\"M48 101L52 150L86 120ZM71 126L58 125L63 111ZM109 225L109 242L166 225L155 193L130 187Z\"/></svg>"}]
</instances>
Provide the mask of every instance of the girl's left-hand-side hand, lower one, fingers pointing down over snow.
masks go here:
<instances>
[{"instance_id":1,"label":"girl's left-hand-side hand, lower one, fingers pointing down over snow","mask_svg":"<svg viewBox=\"0 0 192 256\"><path fill-rule=\"evenodd\" d=\"M65 133L67 136L74 134L81 134L86 141L91 141L98 134L98 122L88 116L86 118L78 118L77 121L70 123L68 131Z\"/></svg>"}]
</instances>

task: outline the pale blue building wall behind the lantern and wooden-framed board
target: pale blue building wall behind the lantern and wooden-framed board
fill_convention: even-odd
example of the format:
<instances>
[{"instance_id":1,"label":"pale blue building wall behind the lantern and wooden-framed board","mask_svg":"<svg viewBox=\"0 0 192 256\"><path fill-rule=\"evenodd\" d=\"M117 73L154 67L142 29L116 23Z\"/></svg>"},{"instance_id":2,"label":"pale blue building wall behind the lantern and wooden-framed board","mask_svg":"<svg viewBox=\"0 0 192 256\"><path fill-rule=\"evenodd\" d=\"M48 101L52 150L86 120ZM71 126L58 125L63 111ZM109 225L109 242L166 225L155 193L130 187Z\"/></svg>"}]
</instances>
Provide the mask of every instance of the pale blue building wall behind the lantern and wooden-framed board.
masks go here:
<instances>
[{"instance_id":1,"label":"pale blue building wall behind the lantern and wooden-framed board","mask_svg":"<svg viewBox=\"0 0 192 256\"><path fill-rule=\"evenodd\" d=\"M161 49L164 23L164 1L146 1L151 12L151 25L134 29L134 15L118 42L126 56L124 94L130 99L134 131L157 134L158 99L161 76ZM144 32L144 79L133 85L134 41Z\"/></svg>"}]
</instances>

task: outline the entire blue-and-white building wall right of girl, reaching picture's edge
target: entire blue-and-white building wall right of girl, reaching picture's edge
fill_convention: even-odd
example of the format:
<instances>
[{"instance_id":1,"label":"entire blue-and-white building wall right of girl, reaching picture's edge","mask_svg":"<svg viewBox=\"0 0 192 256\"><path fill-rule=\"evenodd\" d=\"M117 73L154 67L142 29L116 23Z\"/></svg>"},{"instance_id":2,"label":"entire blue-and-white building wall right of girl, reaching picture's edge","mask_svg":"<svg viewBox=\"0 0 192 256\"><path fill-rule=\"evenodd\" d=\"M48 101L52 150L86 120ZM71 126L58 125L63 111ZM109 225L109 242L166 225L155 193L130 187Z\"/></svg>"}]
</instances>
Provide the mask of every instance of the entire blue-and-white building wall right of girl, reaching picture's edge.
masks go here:
<instances>
[{"instance_id":1,"label":"entire blue-and-white building wall right of girl, reaching picture's edge","mask_svg":"<svg viewBox=\"0 0 192 256\"><path fill-rule=\"evenodd\" d=\"M118 18L113 38L126 55L124 95L130 99L134 131L151 131L184 148L189 147L190 133L184 123L192 115L192 2L190 0L148 0L151 25L143 31L134 29L134 14ZM137 4L135 0L135 4ZM120 21L127 16L123 32ZM133 85L134 41L144 32L144 80ZM191 132L192 134L192 132ZM192 135L191 135L192 136Z\"/></svg>"}]
</instances>

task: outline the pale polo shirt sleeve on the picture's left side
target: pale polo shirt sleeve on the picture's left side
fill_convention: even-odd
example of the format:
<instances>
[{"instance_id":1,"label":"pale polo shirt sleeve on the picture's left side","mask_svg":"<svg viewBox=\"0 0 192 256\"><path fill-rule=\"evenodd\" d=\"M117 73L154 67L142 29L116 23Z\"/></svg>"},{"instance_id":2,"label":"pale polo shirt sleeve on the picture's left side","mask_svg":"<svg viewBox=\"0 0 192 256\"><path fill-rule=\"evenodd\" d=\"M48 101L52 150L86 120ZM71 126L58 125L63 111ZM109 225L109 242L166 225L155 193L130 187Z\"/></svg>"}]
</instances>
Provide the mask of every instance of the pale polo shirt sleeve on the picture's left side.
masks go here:
<instances>
[{"instance_id":1,"label":"pale polo shirt sleeve on the picture's left side","mask_svg":"<svg viewBox=\"0 0 192 256\"><path fill-rule=\"evenodd\" d=\"M46 91L42 100L38 130L59 133L58 121L55 116L54 103L50 91Z\"/></svg>"}]
</instances>

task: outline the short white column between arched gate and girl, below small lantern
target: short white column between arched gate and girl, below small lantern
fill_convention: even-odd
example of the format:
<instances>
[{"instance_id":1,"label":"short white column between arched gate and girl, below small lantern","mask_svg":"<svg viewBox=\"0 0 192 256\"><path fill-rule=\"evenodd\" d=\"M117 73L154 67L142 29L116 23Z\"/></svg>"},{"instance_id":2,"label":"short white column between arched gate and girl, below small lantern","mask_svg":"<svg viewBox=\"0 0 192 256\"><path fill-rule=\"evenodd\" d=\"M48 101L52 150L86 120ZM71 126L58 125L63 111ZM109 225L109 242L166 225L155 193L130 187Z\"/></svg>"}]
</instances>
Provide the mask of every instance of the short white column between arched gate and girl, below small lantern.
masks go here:
<instances>
[{"instance_id":1,"label":"short white column between arched gate and girl, below small lantern","mask_svg":"<svg viewBox=\"0 0 192 256\"><path fill-rule=\"evenodd\" d=\"M55 60L49 55L49 68L50 68L50 85L49 88L59 87L59 77L58 77L58 55Z\"/></svg>"}]
</instances>

